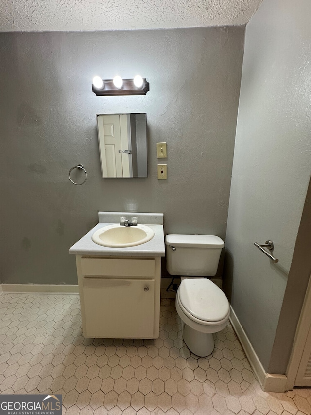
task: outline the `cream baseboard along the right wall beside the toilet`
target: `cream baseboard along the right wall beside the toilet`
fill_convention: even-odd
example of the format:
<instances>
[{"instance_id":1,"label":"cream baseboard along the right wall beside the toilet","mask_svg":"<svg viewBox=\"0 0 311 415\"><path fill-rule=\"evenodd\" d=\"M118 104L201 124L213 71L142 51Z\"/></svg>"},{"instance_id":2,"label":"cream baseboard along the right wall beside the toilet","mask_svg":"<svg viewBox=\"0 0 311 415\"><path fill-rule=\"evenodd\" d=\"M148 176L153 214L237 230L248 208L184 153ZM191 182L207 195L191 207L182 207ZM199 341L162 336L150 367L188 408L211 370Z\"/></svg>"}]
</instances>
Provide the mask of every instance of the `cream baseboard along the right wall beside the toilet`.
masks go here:
<instances>
[{"instance_id":1,"label":"cream baseboard along the right wall beside the toilet","mask_svg":"<svg viewBox=\"0 0 311 415\"><path fill-rule=\"evenodd\" d=\"M230 306L230 323L243 347L245 355L253 368L254 374L264 391L285 392L287 376L277 373L267 373L259 360L251 342L249 341L233 308Z\"/></svg>"}]
</instances>

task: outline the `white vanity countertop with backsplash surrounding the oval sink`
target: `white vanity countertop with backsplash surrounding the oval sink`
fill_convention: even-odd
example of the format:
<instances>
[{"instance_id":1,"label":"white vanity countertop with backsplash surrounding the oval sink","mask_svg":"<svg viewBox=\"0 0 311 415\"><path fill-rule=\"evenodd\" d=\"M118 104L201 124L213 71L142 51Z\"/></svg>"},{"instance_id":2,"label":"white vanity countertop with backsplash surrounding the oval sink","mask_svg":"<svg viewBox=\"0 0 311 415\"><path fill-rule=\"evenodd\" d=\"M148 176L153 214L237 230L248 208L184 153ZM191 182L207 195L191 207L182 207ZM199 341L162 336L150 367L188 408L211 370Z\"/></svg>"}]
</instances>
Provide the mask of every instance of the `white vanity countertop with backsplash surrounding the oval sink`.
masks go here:
<instances>
[{"instance_id":1,"label":"white vanity countertop with backsplash surrounding the oval sink","mask_svg":"<svg viewBox=\"0 0 311 415\"><path fill-rule=\"evenodd\" d=\"M109 215L111 214L111 216ZM152 216L157 220L152 220ZM155 233L155 236L149 241L141 245L131 246L128 248L110 248L98 245L92 241L92 235L95 231L107 225L117 223L116 217L131 216L138 217L138 223L149 226ZM99 255L99 256L165 256L164 230L163 230L163 214L141 214L136 212L99 212L99 218L110 219L111 222L100 222L78 242L69 249L69 253L73 255ZM139 220L140 219L140 220ZM149 219L149 220L148 220ZM147 222L151 223L147 223ZM160 222L160 223L152 223ZM162 222L162 223L161 223Z\"/></svg>"}]
</instances>

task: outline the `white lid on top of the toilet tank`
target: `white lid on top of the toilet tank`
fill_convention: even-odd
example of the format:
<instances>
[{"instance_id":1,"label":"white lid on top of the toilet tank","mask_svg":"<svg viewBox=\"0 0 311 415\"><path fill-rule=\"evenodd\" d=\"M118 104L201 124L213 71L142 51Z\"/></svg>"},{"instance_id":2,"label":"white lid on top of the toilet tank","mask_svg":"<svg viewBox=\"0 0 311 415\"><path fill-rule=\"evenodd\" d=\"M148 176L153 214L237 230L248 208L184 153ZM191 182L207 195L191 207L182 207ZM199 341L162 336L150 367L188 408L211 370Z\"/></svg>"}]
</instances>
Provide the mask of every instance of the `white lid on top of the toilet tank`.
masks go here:
<instances>
[{"instance_id":1,"label":"white lid on top of the toilet tank","mask_svg":"<svg viewBox=\"0 0 311 415\"><path fill-rule=\"evenodd\" d=\"M191 248L224 248L225 243L215 235L184 235L169 234L165 237L166 245L184 246Z\"/></svg>"}]
</instances>

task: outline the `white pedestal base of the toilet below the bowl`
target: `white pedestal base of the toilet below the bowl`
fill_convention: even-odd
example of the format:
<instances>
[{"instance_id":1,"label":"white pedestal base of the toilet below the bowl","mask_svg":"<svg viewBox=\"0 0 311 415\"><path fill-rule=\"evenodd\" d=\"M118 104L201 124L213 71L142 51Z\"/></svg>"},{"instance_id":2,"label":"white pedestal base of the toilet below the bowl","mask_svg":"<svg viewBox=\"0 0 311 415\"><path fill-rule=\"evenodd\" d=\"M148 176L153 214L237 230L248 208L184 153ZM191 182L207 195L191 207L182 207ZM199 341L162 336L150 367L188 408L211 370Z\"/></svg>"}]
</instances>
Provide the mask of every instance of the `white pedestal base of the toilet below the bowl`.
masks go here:
<instances>
[{"instance_id":1,"label":"white pedestal base of the toilet below the bowl","mask_svg":"<svg viewBox=\"0 0 311 415\"><path fill-rule=\"evenodd\" d=\"M189 325L183 324L182 335L187 347L197 356L208 356L214 350L213 333L201 333Z\"/></svg>"}]
</instances>

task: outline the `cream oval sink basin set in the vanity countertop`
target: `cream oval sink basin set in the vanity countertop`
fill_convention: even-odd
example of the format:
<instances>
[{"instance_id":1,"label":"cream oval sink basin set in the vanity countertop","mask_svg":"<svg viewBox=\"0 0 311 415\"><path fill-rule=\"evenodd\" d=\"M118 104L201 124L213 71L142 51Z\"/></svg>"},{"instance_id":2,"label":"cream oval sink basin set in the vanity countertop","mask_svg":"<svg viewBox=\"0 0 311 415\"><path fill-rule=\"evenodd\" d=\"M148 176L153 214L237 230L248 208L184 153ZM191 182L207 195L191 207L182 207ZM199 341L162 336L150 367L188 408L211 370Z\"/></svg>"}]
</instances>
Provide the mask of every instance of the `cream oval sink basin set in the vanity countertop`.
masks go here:
<instances>
[{"instance_id":1,"label":"cream oval sink basin set in the vanity countertop","mask_svg":"<svg viewBox=\"0 0 311 415\"><path fill-rule=\"evenodd\" d=\"M98 245L111 248L126 248L150 241L155 236L154 231L146 225L121 226L107 225L92 235L92 241Z\"/></svg>"}]
</instances>

